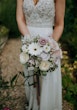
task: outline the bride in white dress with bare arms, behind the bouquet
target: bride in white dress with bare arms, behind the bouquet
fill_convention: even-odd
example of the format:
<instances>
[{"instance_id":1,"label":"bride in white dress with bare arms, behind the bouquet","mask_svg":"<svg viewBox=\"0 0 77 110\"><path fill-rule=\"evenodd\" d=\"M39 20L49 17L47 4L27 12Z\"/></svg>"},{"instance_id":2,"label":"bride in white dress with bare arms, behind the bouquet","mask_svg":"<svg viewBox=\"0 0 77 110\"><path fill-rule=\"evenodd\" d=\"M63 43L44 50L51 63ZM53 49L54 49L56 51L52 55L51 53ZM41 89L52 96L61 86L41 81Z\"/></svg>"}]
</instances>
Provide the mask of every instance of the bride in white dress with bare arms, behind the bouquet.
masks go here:
<instances>
[{"instance_id":1,"label":"bride in white dress with bare arms, behind the bouquet","mask_svg":"<svg viewBox=\"0 0 77 110\"><path fill-rule=\"evenodd\" d=\"M26 36L50 36L58 46L63 33L65 0L17 0L16 20L21 40ZM25 76L33 75L24 66ZM61 61L58 68L40 80L40 96L33 83L33 76L25 82L26 110L62 110ZM37 98L38 97L38 98ZM38 103L39 102L39 103Z\"/></svg>"}]
</instances>

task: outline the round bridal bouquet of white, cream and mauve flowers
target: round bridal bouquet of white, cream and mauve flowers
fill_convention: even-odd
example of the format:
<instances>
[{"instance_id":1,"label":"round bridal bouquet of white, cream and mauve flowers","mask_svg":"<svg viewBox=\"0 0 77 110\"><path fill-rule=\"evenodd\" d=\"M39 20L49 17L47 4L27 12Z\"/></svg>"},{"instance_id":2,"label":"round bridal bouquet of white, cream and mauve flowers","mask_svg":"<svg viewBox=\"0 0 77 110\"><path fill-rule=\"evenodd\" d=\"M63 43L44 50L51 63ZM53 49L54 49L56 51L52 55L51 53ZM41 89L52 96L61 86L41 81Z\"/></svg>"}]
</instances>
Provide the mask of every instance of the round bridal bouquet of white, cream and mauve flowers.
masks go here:
<instances>
[{"instance_id":1,"label":"round bridal bouquet of white, cream and mauve flowers","mask_svg":"<svg viewBox=\"0 0 77 110\"><path fill-rule=\"evenodd\" d=\"M40 71L46 75L58 67L58 59L62 57L58 43L50 37L24 36L20 48L20 62L35 73ZM38 73L39 74L39 73Z\"/></svg>"}]
</instances>

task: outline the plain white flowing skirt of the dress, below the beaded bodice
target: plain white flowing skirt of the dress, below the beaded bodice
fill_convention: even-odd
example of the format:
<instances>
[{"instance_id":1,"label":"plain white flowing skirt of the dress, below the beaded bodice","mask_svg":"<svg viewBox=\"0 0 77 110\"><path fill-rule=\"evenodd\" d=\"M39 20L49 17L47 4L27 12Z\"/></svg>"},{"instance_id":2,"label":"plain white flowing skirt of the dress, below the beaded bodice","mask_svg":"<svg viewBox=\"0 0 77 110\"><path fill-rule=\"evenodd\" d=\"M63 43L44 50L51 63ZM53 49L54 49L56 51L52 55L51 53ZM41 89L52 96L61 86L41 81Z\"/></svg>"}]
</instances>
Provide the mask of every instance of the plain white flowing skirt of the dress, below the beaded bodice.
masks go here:
<instances>
[{"instance_id":1,"label":"plain white flowing skirt of the dress, below the beaded bodice","mask_svg":"<svg viewBox=\"0 0 77 110\"><path fill-rule=\"evenodd\" d=\"M27 26L31 35L48 37L52 35L53 28ZM33 71L27 71L24 66L25 76L31 76L25 81L26 99L29 103L27 110L62 110L62 77L61 61L58 60L58 68L53 72L48 72L47 76L40 78L40 104L37 101L37 90L33 83Z\"/></svg>"}]
</instances>

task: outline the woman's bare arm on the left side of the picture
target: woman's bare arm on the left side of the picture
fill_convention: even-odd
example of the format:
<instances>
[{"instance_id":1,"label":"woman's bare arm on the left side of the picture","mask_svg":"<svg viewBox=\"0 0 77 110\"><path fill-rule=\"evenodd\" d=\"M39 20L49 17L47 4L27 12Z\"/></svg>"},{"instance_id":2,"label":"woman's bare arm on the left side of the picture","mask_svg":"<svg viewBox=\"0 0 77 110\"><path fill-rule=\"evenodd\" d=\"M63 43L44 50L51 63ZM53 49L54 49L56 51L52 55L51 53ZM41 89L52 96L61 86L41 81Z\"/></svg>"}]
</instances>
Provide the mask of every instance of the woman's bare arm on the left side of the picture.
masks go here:
<instances>
[{"instance_id":1,"label":"woman's bare arm on the left side of the picture","mask_svg":"<svg viewBox=\"0 0 77 110\"><path fill-rule=\"evenodd\" d=\"M26 20L23 14L22 4L23 4L23 0L17 0L16 21L17 21L20 33L24 36L30 33L26 26Z\"/></svg>"}]
</instances>

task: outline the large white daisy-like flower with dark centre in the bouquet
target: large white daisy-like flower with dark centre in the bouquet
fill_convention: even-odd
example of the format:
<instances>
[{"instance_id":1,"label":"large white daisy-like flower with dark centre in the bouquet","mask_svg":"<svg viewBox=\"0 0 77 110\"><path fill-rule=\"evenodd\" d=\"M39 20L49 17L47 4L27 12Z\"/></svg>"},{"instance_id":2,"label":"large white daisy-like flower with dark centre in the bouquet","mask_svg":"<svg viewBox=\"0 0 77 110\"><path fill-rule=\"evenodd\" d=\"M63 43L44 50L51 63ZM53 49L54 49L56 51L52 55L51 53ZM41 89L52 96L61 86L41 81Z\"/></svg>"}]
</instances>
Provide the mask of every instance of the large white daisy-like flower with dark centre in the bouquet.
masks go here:
<instances>
[{"instance_id":1,"label":"large white daisy-like flower with dark centre in the bouquet","mask_svg":"<svg viewBox=\"0 0 77 110\"><path fill-rule=\"evenodd\" d=\"M31 43L28 47L29 53L31 55L39 55L42 52L42 48L38 45L38 43Z\"/></svg>"}]
</instances>

